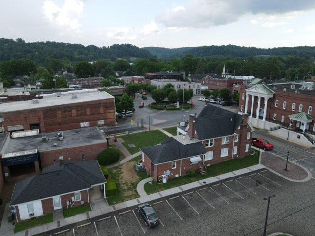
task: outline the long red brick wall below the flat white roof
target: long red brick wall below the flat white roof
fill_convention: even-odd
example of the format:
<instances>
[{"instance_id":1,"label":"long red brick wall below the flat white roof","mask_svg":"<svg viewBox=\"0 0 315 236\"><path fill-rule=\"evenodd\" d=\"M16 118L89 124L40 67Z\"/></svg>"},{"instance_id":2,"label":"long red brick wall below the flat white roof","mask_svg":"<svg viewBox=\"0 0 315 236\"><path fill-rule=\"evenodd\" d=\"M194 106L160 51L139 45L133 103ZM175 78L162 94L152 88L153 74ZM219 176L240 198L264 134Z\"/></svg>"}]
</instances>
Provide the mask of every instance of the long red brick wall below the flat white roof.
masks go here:
<instances>
[{"instance_id":1,"label":"long red brick wall below the flat white roof","mask_svg":"<svg viewBox=\"0 0 315 236\"><path fill-rule=\"evenodd\" d=\"M87 108L90 108L90 115L87 114ZM74 113L73 110L75 110ZM4 115L3 126L5 131L7 131L7 126L21 124L24 125L24 130L28 130L30 124L37 123L40 124L41 133L81 128L81 122L90 122L90 126L97 126L98 120L105 120L105 125L112 125L115 124L115 100L109 99L8 112Z\"/></svg>"}]
</instances>

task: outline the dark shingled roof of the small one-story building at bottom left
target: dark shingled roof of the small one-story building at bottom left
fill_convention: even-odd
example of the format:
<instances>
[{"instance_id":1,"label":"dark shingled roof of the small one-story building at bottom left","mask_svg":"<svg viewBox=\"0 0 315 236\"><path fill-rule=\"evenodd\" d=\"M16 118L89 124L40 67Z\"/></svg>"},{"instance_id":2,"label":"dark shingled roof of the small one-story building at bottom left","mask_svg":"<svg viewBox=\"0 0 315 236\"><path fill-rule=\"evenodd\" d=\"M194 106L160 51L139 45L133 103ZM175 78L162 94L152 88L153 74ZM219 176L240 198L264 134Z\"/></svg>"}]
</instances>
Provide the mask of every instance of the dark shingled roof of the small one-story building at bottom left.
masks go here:
<instances>
[{"instance_id":1,"label":"dark shingled roof of the small one-story building at bottom left","mask_svg":"<svg viewBox=\"0 0 315 236\"><path fill-rule=\"evenodd\" d=\"M15 185L10 205L91 188L106 179L97 161L65 162L43 169Z\"/></svg>"}]
</instances>

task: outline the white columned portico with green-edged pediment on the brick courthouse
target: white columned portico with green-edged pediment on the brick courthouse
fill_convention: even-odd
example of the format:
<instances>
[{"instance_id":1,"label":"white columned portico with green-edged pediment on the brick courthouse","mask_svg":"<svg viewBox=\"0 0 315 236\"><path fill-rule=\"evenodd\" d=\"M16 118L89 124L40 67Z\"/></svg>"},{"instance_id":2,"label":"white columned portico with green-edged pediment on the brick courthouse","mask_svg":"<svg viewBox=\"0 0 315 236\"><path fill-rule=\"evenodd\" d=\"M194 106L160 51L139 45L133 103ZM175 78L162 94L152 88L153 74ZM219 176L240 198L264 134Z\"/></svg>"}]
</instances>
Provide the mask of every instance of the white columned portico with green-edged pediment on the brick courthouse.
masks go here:
<instances>
[{"instance_id":1,"label":"white columned portico with green-edged pediment on the brick courthouse","mask_svg":"<svg viewBox=\"0 0 315 236\"><path fill-rule=\"evenodd\" d=\"M251 113L249 116L249 121L252 123L254 126L261 126L258 125L258 122L261 121L259 119L259 116L263 117L262 121L266 121L266 116L267 116L267 110L268 110L268 100L269 98L272 98L274 96L274 91L270 89L268 86L265 84L258 84L254 85L248 89L245 89L246 92L246 100L245 100L245 110L244 113L248 113L248 103L250 96L252 97L252 104L251 104ZM257 97L257 99L255 99ZM263 101L262 101L263 99ZM263 108L261 108L261 102L264 103ZM253 119L253 114L254 114L254 104L257 104L256 107L256 117Z\"/></svg>"}]
</instances>

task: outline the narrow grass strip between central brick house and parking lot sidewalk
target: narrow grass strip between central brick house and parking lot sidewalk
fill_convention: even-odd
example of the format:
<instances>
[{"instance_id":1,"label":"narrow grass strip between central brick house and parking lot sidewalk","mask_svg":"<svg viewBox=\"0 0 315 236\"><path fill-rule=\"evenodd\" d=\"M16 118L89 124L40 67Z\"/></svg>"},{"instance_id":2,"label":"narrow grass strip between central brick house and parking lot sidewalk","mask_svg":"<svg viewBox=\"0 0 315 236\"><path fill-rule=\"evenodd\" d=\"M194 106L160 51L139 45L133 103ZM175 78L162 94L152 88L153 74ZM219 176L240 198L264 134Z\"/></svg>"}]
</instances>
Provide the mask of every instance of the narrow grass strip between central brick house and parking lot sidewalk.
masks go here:
<instances>
[{"instance_id":1,"label":"narrow grass strip between central brick house and parking lot sidewalk","mask_svg":"<svg viewBox=\"0 0 315 236\"><path fill-rule=\"evenodd\" d=\"M252 149L253 150L253 149ZM242 159L234 159L229 161L224 161L218 164L211 165L207 167L206 175L201 175L200 173L196 173L194 176L181 176L176 177L169 180L167 183L155 183L152 184L146 183L144 185L144 190L147 194L156 193L165 189L174 188L183 184L191 183L194 181L198 181L204 178L218 176L227 172L239 170L245 167L249 167L252 165L256 165L259 162L259 154L258 151L253 150L254 155L248 155Z\"/></svg>"}]
</instances>

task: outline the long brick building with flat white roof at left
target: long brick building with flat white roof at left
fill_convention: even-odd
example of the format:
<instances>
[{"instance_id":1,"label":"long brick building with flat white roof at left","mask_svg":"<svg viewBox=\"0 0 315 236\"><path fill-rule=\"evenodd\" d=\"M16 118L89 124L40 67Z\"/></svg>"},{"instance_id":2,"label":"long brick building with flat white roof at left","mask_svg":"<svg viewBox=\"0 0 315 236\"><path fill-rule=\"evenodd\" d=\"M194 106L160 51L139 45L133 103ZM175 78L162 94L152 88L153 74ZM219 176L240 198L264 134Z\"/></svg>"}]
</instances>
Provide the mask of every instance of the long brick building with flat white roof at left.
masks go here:
<instances>
[{"instance_id":1,"label":"long brick building with flat white roof at left","mask_svg":"<svg viewBox=\"0 0 315 236\"><path fill-rule=\"evenodd\" d=\"M4 132L40 132L115 124L115 98L106 92L53 94L42 99L1 104Z\"/></svg>"}]
</instances>

